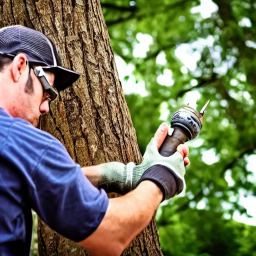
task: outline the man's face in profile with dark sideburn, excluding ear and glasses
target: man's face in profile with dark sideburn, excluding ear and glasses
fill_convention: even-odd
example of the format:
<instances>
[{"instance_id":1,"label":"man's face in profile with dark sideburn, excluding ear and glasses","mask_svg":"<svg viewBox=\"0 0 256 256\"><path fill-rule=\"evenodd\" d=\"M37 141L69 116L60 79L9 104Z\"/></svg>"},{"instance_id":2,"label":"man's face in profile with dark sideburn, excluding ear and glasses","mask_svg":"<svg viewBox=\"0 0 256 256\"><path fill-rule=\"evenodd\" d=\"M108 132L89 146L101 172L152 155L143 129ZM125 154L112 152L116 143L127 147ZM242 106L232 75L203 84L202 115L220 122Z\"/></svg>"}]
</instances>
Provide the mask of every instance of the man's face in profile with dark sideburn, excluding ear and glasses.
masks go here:
<instances>
[{"instance_id":1,"label":"man's face in profile with dark sideburn, excluding ear and glasses","mask_svg":"<svg viewBox=\"0 0 256 256\"><path fill-rule=\"evenodd\" d=\"M49 83L53 85L54 74L45 72L45 76ZM29 121L34 126L37 126L41 113L49 111L49 99L47 92L44 91L40 80L34 74L33 69L27 66L26 80L22 79L18 93L18 117ZM15 111L17 112L17 111Z\"/></svg>"}]
</instances>

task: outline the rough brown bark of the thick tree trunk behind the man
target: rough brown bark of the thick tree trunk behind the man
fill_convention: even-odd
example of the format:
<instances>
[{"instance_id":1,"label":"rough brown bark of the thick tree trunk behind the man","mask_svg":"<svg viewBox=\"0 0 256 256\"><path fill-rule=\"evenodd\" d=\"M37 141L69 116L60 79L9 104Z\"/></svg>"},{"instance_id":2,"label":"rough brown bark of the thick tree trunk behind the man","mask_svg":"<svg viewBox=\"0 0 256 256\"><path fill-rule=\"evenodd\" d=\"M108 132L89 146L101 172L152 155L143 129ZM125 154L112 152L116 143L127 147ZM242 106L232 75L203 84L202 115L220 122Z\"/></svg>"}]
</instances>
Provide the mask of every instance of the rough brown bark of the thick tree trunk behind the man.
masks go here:
<instances>
[{"instance_id":1,"label":"rough brown bark of the thick tree trunk behind the man","mask_svg":"<svg viewBox=\"0 0 256 256\"><path fill-rule=\"evenodd\" d=\"M21 24L56 45L63 66L81 73L51 103L40 128L58 138L82 166L141 160L99 0L0 0L0 27ZM72 241L38 224L39 255L85 255ZM154 219L123 255L162 255Z\"/></svg>"}]
</instances>

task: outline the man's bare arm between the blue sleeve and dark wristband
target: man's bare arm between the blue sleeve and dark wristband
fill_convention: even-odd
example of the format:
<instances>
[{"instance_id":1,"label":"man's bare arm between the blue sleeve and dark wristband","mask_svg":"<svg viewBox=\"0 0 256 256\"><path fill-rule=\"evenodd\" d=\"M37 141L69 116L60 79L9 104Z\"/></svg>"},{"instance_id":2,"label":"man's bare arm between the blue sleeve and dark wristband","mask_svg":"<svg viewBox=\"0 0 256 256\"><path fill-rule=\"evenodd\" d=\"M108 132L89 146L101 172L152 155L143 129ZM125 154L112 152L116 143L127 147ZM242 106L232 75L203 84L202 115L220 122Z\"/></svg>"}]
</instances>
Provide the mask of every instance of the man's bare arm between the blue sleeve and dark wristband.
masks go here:
<instances>
[{"instance_id":1,"label":"man's bare arm between the blue sleeve and dark wristband","mask_svg":"<svg viewBox=\"0 0 256 256\"><path fill-rule=\"evenodd\" d=\"M110 199L98 228L79 244L90 255L119 255L148 225L161 200L158 186L148 180L142 181L126 195Z\"/></svg>"}]
</instances>

